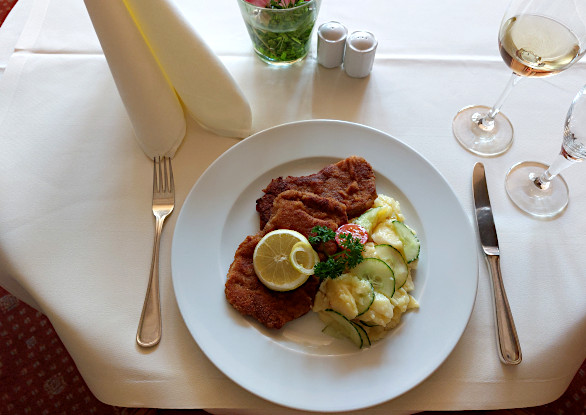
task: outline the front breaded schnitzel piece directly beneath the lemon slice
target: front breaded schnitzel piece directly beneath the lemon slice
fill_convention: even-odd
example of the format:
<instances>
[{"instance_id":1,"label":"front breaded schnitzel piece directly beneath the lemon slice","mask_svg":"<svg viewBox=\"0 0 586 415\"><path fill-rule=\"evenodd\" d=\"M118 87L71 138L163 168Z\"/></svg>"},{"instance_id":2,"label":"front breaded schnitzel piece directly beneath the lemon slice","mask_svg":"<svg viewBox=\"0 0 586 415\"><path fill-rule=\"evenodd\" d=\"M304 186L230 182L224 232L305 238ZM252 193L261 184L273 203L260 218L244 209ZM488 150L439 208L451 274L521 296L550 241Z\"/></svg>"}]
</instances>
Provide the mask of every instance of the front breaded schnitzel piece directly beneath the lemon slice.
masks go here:
<instances>
[{"instance_id":1,"label":"front breaded schnitzel piece directly beneath the lemon slice","mask_svg":"<svg viewBox=\"0 0 586 415\"><path fill-rule=\"evenodd\" d=\"M238 312L255 318L268 328L279 329L311 310L319 280L311 276L295 290L270 290L254 272L254 248L264 235L275 229L291 229L307 237L314 226L335 230L346 223L348 217L341 202L307 192L283 192L274 204L274 215L265 228L246 237L236 250L224 291L228 302Z\"/></svg>"}]
</instances>

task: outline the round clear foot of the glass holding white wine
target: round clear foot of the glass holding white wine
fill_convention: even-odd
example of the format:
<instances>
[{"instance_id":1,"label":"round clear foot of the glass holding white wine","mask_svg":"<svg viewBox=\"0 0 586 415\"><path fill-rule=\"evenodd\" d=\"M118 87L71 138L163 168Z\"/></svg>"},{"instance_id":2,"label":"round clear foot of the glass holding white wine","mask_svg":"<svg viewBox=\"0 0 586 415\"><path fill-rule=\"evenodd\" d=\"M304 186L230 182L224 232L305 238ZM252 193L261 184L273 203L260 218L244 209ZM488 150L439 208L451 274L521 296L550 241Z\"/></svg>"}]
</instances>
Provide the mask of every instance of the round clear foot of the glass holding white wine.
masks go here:
<instances>
[{"instance_id":1,"label":"round clear foot of the glass holding white wine","mask_svg":"<svg viewBox=\"0 0 586 415\"><path fill-rule=\"evenodd\" d=\"M491 130L482 129L473 121L474 114L487 114L489 107L473 105L464 107L452 121L454 137L466 150L483 157L503 154L513 144L513 125L502 113L494 118Z\"/></svg>"}]
</instances>

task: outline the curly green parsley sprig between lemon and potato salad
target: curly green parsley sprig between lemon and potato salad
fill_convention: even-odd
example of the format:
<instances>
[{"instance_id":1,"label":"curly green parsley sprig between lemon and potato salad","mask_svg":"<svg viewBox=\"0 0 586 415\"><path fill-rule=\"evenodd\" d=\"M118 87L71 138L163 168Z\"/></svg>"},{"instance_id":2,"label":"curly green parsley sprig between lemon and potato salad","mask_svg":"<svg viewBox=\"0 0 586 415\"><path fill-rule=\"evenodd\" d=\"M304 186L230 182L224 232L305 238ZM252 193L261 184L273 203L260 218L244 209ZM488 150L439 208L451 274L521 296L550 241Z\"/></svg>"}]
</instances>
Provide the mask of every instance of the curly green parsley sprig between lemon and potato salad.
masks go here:
<instances>
[{"instance_id":1,"label":"curly green parsley sprig between lemon and potato salad","mask_svg":"<svg viewBox=\"0 0 586 415\"><path fill-rule=\"evenodd\" d=\"M336 238L336 232L325 226L316 226L311 232L313 235L308 239L313 245L332 241ZM313 268L314 274L321 280L337 278L346 270L354 268L364 260L362 257L364 245L360 242L360 239L349 233L341 234L339 239L344 250L329 255L327 260L318 262Z\"/></svg>"}]
</instances>

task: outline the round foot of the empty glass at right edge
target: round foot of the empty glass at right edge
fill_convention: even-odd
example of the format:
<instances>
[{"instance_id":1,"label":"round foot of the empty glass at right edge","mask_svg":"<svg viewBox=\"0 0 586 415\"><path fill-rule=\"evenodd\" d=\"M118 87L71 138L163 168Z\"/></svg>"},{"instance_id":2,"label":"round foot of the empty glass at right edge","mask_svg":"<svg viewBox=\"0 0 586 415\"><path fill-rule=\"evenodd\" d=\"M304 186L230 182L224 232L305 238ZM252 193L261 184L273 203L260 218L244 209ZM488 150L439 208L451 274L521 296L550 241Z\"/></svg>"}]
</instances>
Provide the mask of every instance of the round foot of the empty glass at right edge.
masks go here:
<instances>
[{"instance_id":1,"label":"round foot of the empty glass at right edge","mask_svg":"<svg viewBox=\"0 0 586 415\"><path fill-rule=\"evenodd\" d=\"M569 200L568 185L560 175L554 177L544 190L533 183L547 167L536 161L525 161L511 167L505 178L511 201L525 213L543 219L562 213Z\"/></svg>"}]
</instances>

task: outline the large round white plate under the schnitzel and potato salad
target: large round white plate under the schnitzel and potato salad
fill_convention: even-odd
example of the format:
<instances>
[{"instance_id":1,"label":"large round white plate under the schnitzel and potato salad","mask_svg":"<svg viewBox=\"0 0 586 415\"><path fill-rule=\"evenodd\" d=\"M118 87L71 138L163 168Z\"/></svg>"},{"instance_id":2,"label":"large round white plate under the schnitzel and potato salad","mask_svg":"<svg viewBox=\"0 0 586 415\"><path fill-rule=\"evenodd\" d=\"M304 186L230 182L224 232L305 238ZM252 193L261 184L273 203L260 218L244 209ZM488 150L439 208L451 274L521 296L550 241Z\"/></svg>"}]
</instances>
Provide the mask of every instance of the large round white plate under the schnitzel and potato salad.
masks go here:
<instances>
[{"instance_id":1,"label":"large round white plate under the schnitzel and potato salad","mask_svg":"<svg viewBox=\"0 0 586 415\"><path fill-rule=\"evenodd\" d=\"M350 155L373 166L378 193L401 202L422 243L412 293L421 308L362 350L322 334L315 313L267 330L224 296L236 248L259 229L255 200L262 189L272 178L311 174ZM262 131L218 158L181 209L172 271L185 323L222 372L269 401L319 412L376 405L427 378L460 339L478 279L471 221L434 167L385 133L328 120Z\"/></svg>"}]
</instances>

